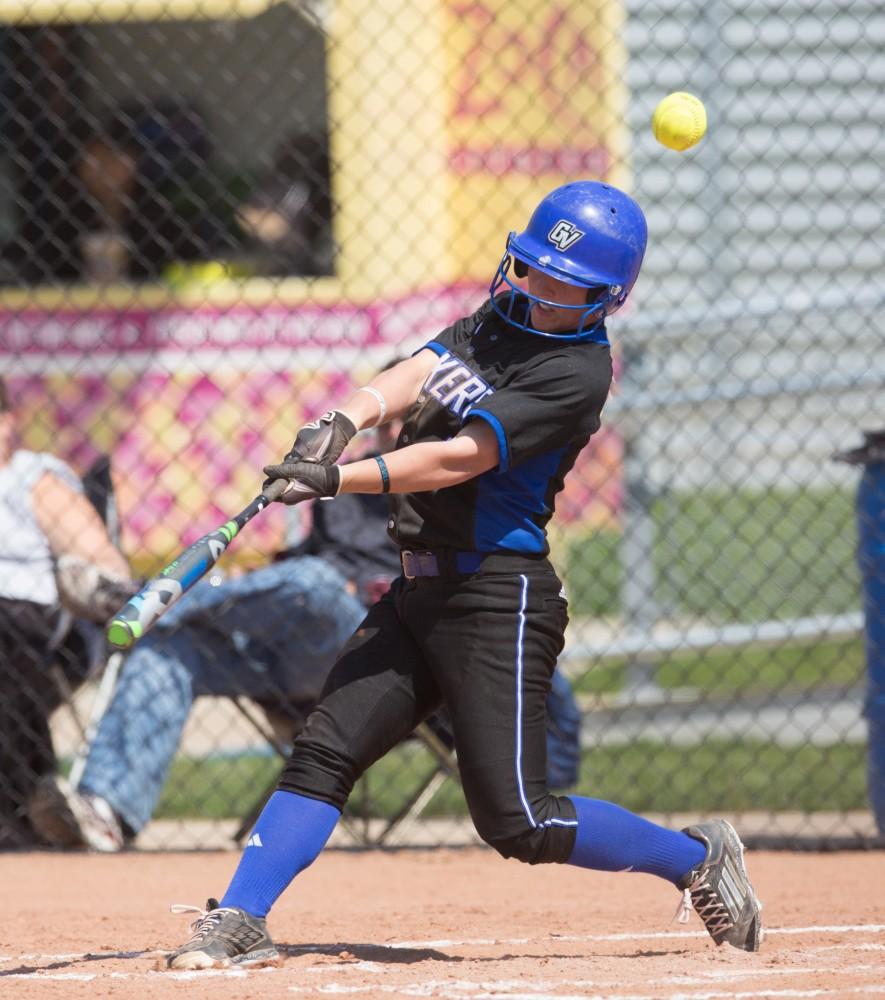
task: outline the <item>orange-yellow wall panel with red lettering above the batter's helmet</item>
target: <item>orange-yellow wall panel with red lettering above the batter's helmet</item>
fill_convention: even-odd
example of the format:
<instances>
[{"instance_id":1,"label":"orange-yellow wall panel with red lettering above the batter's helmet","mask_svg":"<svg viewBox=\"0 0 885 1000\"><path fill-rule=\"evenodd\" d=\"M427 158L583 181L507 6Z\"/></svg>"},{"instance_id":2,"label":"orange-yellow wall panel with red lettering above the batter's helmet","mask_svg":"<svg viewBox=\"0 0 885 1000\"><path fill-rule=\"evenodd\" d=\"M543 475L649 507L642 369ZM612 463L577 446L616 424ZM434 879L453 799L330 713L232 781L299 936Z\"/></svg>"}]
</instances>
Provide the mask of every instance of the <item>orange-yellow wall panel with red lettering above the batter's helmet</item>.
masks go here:
<instances>
[{"instance_id":1,"label":"orange-yellow wall panel with red lettering above the batter's helmet","mask_svg":"<svg viewBox=\"0 0 885 1000\"><path fill-rule=\"evenodd\" d=\"M552 188L624 184L623 12L614 0L448 0L451 252L488 275Z\"/></svg>"}]
</instances>

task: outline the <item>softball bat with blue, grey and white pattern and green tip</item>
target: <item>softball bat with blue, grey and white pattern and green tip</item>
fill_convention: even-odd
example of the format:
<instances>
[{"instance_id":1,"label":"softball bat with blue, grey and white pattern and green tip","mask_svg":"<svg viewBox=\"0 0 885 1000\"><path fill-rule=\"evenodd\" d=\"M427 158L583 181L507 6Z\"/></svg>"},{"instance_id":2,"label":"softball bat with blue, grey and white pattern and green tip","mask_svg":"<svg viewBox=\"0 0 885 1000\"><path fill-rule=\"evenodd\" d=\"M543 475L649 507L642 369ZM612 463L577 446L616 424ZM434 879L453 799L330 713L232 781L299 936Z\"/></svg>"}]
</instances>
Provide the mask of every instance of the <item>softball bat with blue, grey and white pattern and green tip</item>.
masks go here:
<instances>
[{"instance_id":1,"label":"softball bat with blue, grey and white pattern and green tip","mask_svg":"<svg viewBox=\"0 0 885 1000\"><path fill-rule=\"evenodd\" d=\"M205 576L245 525L278 499L288 485L285 479L269 483L248 507L189 545L157 576L148 580L109 622L108 642L117 649L128 649L140 639L182 594Z\"/></svg>"}]
</instances>

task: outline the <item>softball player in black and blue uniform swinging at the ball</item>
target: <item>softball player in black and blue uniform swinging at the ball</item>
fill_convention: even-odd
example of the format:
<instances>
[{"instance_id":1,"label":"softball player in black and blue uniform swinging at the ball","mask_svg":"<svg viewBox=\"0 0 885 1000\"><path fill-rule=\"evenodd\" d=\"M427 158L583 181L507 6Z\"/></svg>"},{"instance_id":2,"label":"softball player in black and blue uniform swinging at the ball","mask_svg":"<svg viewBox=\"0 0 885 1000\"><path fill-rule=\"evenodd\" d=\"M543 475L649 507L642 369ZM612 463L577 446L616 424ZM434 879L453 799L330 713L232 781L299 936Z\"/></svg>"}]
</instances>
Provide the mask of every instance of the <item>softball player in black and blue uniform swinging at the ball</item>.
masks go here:
<instances>
[{"instance_id":1,"label":"softball player in black and blue uniform swinging at the ball","mask_svg":"<svg viewBox=\"0 0 885 1000\"><path fill-rule=\"evenodd\" d=\"M390 493L403 572L342 651L220 904L182 908L199 917L170 967L277 960L271 906L322 850L357 778L441 703L470 815L500 854L657 875L717 944L759 947L760 904L728 823L668 830L544 781L544 701L568 621L545 528L599 428L605 320L636 281L646 237L616 188L556 189L510 234L474 315L302 428L265 469L289 481L288 503ZM400 416L393 452L335 464L358 430Z\"/></svg>"}]
</instances>

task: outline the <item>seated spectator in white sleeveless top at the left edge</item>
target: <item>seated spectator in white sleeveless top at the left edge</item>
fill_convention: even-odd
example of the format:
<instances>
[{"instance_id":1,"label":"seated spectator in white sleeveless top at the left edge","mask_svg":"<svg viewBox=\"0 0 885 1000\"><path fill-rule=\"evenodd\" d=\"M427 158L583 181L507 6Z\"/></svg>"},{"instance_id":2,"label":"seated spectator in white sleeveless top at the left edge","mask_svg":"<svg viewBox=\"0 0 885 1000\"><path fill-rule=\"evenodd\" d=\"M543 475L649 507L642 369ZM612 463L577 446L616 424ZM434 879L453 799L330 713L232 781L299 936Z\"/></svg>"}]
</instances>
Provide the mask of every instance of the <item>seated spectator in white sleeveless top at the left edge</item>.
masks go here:
<instances>
[{"instance_id":1,"label":"seated spectator in white sleeveless top at the left edge","mask_svg":"<svg viewBox=\"0 0 885 1000\"><path fill-rule=\"evenodd\" d=\"M134 585L80 480L52 455L16 448L0 377L0 848L32 846L27 808L56 768L48 720L62 700L53 667L85 672L74 614L104 621Z\"/></svg>"}]
</instances>

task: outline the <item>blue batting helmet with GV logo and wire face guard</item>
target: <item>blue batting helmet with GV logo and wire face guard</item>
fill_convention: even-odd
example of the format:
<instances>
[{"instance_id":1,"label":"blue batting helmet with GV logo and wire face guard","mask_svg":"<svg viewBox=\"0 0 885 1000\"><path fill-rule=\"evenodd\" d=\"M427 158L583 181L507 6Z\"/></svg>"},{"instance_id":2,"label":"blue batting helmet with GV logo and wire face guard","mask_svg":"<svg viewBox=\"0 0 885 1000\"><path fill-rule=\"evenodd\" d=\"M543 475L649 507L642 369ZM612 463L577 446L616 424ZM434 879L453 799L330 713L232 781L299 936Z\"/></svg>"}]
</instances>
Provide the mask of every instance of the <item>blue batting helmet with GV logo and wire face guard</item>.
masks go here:
<instances>
[{"instance_id":1,"label":"blue batting helmet with GV logo and wire face guard","mask_svg":"<svg viewBox=\"0 0 885 1000\"><path fill-rule=\"evenodd\" d=\"M642 209L629 196L599 181L575 181L556 188L538 205L525 231L511 233L490 292L495 311L529 333L562 340L588 340L606 316L620 309L639 275L648 227ZM530 295L509 276L518 278L529 267L569 285L587 288L587 302L572 306ZM496 298L502 286L509 298ZM513 315L517 294L529 299L525 322ZM535 302L575 311L575 329L546 333L531 323Z\"/></svg>"}]
</instances>

